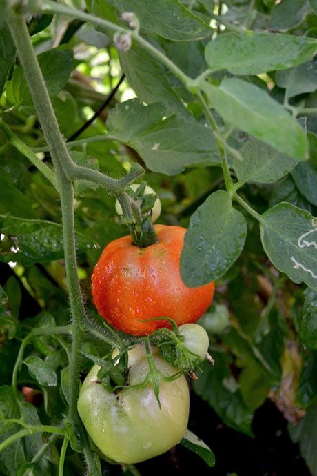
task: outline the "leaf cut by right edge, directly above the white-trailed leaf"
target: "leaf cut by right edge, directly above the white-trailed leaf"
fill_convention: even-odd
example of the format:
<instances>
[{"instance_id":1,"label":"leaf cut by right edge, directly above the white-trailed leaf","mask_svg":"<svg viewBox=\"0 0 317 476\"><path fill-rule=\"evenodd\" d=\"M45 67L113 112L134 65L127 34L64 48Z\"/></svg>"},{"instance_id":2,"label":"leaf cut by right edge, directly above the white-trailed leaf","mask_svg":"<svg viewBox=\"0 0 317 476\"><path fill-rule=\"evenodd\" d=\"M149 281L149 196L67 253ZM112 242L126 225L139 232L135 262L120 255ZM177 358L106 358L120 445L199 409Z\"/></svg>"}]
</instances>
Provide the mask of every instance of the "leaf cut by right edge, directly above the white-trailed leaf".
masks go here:
<instances>
[{"instance_id":1,"label":"leaf cut by right edge, directly above the white-trailed leaf","mask_svg":"<svg viewBox=\"0 0 317 476\"><path fill-rule=\"evenodd\" d=\"M298 163L292 171L292 177L300 193L317 206L317 135L309 132L310 159L307 162Z\"/></svg>"}]
</instances>

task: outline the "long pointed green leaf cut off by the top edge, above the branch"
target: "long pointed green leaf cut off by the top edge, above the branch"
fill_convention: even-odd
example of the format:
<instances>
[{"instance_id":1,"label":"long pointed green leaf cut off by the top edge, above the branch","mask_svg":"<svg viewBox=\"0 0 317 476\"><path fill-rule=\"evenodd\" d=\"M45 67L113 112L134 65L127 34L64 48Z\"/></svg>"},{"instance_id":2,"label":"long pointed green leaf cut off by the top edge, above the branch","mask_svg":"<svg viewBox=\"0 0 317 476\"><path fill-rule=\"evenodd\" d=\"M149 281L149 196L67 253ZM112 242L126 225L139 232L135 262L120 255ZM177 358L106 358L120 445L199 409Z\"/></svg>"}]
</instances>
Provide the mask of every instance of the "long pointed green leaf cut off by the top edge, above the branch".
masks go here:
<instances>
[{"instance_id":1,"label":"long pointed green leaf cut off by the top edge, above the branch","mask_svg":"<svg viewBox=\"0 0 317 476\"><path fill-rule=\"evenodd\" d=\"M142 28L174 41L210 37L212 29L178 0L108 0L121 12L134 12Z\"/></svg>"}]
</instances>

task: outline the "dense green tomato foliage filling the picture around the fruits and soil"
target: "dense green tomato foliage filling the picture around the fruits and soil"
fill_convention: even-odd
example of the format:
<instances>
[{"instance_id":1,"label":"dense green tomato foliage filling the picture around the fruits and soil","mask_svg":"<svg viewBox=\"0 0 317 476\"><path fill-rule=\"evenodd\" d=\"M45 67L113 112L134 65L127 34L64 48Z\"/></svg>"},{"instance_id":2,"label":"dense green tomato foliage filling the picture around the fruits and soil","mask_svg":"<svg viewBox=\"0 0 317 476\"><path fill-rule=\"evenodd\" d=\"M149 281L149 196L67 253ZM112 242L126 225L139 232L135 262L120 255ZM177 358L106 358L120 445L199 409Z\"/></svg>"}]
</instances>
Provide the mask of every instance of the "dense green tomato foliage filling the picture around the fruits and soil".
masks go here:
<instances>
[{"instance_id":1,"label":"dense green tomato foliage filling the picture around the fruits and soil","mask_svg":"<svg viewBox=\"0 0 317 476\"><path fill-rule=\"evenodd\" d=\"M190 355L175 330L154 333L150 344L196 373L196 395L247 437L254 436L254 412L270 397L317 475L316 0L25 6L57 123L70 139L68 164L58 135L48 151L54 121L48 130L43 119L52 111L31 97L6 26L9 3L0 0L0 445L10 443L0 446L1 475L75 476L86 468L94 476L139 474L132 465L100 464L74 418L79 375L98 364L101 385L116 395L126 384L127 349L142 340L105 324L90 283L103 247L126 235L134 219L116 215L115 195L124 187L110 193L101 177L125 177L135 163L145 168L136 181L161 199L159 223L188 228L185 284L216 280L214 304L199 321L214 366ZM121 50L118 33L127 41ZM98 119L77 137L96 111ZM76 178L78 166L84 172ZM63 182L68 199L50 181L61 171L72 181ZM71 250L65 210L74 210ZM146 378L159 399L155 366ZM70 442L65 461L63 437ZM217 454L189 430L181 445L214 466ZM226 452L231 459L229 445Z\"/></svg>"}]
</instances>

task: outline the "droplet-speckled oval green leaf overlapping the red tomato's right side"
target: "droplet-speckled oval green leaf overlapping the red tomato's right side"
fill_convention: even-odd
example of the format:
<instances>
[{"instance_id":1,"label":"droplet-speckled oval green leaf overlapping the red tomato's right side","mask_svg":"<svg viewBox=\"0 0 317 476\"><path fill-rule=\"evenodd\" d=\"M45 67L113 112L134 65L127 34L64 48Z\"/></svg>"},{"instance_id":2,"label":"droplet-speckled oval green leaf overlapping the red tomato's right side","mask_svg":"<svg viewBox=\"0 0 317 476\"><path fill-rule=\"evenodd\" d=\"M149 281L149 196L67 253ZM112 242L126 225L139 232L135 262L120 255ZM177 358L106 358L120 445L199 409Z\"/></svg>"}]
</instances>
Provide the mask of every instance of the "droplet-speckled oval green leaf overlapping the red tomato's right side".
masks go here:
<instances>
[{"instance_id":1,"label":"droplet-speckled oval green leaf overlapping the red tomato's right side","mask_svg":"<svg viewBox=\"0 0 317 476\"><path fill-rule=\"evenodd\" d=\"M190 219L181 253L181 277L187 286L202 286L223 276L243 250L245 218L232 207L228 192L218 190Z\"/></svg>"}]
</instances>

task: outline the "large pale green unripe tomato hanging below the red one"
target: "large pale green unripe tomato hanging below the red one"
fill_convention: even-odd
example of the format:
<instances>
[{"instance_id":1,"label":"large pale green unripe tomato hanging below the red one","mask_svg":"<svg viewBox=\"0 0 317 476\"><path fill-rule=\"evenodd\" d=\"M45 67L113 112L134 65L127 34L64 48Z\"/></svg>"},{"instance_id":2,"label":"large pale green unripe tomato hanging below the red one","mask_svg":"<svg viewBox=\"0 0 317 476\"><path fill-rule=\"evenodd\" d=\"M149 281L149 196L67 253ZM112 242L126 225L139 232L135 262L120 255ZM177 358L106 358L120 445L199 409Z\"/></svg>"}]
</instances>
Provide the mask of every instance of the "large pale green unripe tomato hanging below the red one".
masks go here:
<instances>
[{"instance_id":1,"label":"large pale green unripe tomato hanging below the red one","mask_svg":"<svg viewBox=\"0 0 317 476\"><path fill-rule=\"evenodd\" d=\"M152 349L156 367L165 376L178 369ZM128 385L141 383L149 367L143 346L128 353ZM101 453L115 462L133 464L161 455L183 438L187 429L190 397L185 377L161 381L161 409L152 384L110 393L99 383L99 366L88 373L77 404L79 416Z\"/></svg>"}]
</instances>

